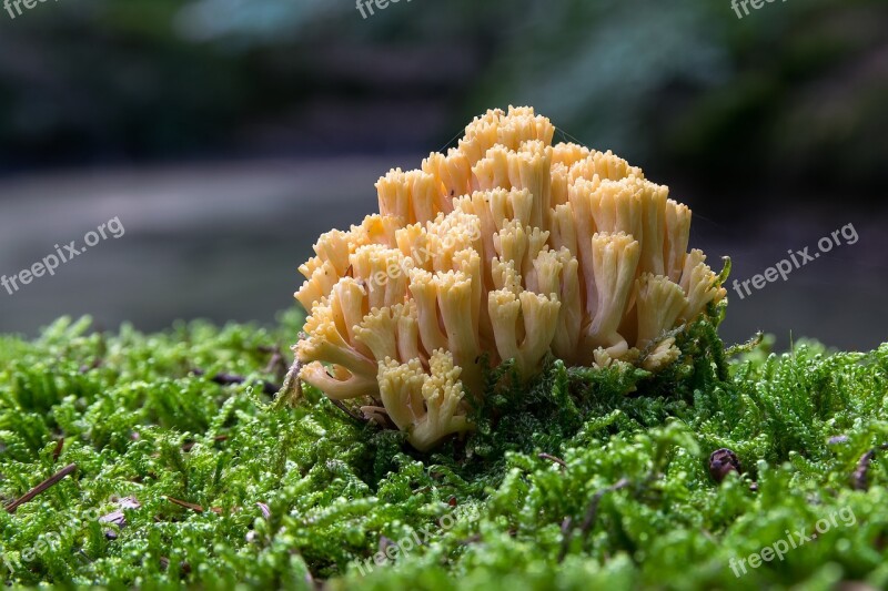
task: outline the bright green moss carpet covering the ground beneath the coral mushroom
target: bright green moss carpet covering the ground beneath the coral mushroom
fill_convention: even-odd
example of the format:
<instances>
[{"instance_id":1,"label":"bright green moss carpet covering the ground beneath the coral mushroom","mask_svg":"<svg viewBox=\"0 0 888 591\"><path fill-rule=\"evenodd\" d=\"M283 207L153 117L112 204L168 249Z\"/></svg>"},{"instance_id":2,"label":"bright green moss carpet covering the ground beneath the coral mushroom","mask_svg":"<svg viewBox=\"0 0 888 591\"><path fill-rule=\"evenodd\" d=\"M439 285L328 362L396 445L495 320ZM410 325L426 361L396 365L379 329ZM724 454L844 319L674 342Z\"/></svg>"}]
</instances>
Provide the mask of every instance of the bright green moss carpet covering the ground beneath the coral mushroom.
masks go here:
<instances>
[{"instance_id":1,"label":"bright green moss carpet covering the ground beneath the coral mushroom","mask_svg":"<svg viewBox=\"0 0 888 591\"><path fill-rule=\"evenodd\" d=\"M478 410L495 428L420 456L317 393L295 409L263 393L262 380L280 383L270 348L286 350L299 328L295 314L276 332L196 323L160 335L60 320L33 342L0 337L0 500L77 466L14 514L0 511L0 578L119 589L888 584L880 452L867 486L854 477L888 440L888 345L764 346L728 363L699 325L667 375L552 363ZM220 385L220 373L249 379ZM723 447L745 473L719 485L708 458ZM139 502L125 524L95 519L125 497ZM825 533L735 577L731 559L811 537L830 516ZM381 550L394 560L376 565Z\"/></svg>"}]
</instances>

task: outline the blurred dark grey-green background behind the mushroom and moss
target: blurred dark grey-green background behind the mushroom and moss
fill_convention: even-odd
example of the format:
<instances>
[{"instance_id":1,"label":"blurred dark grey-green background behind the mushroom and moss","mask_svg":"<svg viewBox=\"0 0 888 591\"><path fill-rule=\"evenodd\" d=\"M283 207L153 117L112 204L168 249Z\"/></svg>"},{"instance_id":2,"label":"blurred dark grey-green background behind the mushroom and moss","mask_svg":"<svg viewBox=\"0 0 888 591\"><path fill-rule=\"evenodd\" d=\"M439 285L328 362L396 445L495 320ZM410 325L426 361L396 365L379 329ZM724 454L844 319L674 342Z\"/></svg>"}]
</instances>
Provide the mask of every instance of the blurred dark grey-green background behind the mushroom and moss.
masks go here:
<instances>
[{"instance_id":1,"label":"blurred dark grey-green background behind the mushroom and moss","mask_svg":"<svg viewBox=\"0 0 888 591\"><path fill-rule=\"evenodd\" d=\"M14 9L13 9L14 10ZM888 340L888 3L49 0L0 12L0 274L120 217L125 235L0 291L0 332L63 315L273 322L321 232L376 208L492 106L532 104L695 213L747 279L839 227L723 334ZM295 338L295 335L294 335Z\"/></svg>"}]
</instances>

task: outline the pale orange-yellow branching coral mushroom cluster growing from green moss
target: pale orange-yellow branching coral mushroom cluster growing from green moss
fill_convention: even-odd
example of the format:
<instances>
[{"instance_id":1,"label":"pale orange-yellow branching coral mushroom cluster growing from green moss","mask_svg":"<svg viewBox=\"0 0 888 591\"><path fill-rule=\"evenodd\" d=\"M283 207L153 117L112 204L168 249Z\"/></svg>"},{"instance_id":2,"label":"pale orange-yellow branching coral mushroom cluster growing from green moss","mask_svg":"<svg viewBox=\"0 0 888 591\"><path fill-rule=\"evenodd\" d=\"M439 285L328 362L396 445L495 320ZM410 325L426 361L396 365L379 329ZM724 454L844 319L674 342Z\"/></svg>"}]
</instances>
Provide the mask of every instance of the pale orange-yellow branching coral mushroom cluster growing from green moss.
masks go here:
<instances>
[{"instance_id":1,"label":"pale orange-yellow branching coral mushroom cluster growing from green moss","mask_svg":"<svg viewBox=\"0 0 888 591\"><path fill-rule=\"evenodd\" d=\"M674 361L673 329L726 295L687 251L690 210L554 132L531 108L492 110L458 147L380 179L379 214L323 234L300 267L300 377L428 450L472 428L484 364L514 359L527 378L548 353Z\"/></svg>"}]
</instances>

